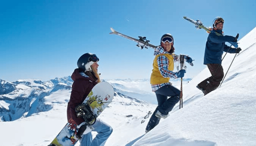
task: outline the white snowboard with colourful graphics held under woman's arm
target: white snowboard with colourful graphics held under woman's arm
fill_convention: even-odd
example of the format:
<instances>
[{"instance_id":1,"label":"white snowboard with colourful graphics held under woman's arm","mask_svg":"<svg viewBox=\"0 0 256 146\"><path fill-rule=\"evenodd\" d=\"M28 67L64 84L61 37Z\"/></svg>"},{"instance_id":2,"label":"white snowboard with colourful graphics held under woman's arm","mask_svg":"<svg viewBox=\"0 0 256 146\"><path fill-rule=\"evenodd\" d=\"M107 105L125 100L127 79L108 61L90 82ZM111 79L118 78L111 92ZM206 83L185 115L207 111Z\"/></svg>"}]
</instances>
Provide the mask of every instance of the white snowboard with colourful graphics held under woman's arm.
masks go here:
<instances>
[{"instance_id":1,"label":"white snowboard with colourful graphics held under woman's arm","mask_svg":"<svg viewBox=\"0 0 256 146\"><path fill-rule=\"evenodd\" d=\"M77 116L84 118L84 124L77 125L70 119L49 146L74 146L82 134L93 130L96 118L113 100L113 96L114 89L108 82L96 84L83 103L75 109Z\"/></svg>"}]
</instances>

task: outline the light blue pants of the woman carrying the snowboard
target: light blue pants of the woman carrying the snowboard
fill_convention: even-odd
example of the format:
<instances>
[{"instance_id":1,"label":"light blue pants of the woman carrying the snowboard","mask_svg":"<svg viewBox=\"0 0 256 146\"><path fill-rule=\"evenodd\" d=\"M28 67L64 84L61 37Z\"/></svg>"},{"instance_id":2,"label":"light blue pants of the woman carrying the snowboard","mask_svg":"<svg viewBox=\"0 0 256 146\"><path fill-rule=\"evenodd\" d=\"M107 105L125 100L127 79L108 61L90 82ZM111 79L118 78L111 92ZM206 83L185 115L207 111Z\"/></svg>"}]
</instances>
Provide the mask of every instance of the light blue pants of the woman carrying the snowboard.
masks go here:
<instances>
[{"instance_id":1,"label":"light blue pants of the woman carrying the snowboard","mask_svg":"<svg viewBox=\"0 0 256 146\"><path fill-rule=\"evenodd\" d=\"M99 118L96 119L96 122L92 126L94 128L92 131L96 131L98 134L94 139L91 132L82 135L80 146L104 146L113 131L111 126Z\"/></svg>"}]
</instances>

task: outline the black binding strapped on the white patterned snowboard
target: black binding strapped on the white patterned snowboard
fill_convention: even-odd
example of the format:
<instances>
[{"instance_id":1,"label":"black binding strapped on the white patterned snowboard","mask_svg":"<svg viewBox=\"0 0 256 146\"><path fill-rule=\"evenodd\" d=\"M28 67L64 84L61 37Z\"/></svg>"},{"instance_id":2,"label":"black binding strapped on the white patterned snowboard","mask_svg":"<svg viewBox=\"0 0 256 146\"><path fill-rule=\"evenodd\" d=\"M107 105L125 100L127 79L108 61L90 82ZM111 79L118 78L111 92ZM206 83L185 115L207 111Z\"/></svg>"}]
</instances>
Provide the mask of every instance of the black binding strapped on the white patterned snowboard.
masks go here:
<instances>
[{"instance_id":1,"label":"black binding strapped on the white patterned snowboard","mask_svg":"<svg viewBox=\"0 0 256 146\"><path fill-rule=\"evenodd\" d=\"M80 104L75 108L76 116L83 117L88 125L93 125L96 122L96 116L91 111L89 105Z\"/></svg>"}]
</instances>

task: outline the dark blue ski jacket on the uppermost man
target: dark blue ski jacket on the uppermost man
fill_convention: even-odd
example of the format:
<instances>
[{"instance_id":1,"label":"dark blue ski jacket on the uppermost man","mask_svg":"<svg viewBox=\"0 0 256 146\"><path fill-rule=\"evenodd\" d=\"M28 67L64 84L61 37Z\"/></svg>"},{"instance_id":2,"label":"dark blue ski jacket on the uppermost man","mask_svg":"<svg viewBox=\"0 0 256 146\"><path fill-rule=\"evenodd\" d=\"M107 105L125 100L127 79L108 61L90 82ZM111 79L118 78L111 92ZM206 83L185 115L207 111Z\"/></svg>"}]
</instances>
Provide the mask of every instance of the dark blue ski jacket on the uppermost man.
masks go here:
<instances>
[{"instance_id":1,"label":"dark blue ski jacket on the uppermost man","mask_svg":"<svg viewBox=\"0 0 256 146\"><path fill-rule=\"evenodd\" d=\"M222 34L222 30L214 30ZM225 42L234 42L235 37L229 35L218 36L215 32L208 35L206 47L204 51L204 64L221 64L223 51L228 53L236 53L236 48L230 48Z\"/></svg>"}]
</instances>

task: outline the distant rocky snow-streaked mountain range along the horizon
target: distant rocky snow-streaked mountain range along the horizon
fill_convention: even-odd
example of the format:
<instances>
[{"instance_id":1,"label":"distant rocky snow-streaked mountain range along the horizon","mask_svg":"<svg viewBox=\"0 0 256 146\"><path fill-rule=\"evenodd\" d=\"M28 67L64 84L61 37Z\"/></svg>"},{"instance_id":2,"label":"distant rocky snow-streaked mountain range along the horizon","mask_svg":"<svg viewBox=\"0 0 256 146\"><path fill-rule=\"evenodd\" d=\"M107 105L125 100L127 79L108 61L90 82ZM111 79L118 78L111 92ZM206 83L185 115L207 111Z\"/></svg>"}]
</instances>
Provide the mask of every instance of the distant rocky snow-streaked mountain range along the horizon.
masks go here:
<instances>
[{"instance_id":1,"label":"distant rocky snow-streaked mountain range along the horizon","mask_svg":"<svg viewBox=\"0 0 256 146\"><path fill-rule=\"evenodd\" d=\"M147 82L149 80L137 81ZM45 102L45 97L59 90L71 91L72 84L73 80L70 76L49 81L29 79L8 82L0 79L0 121L14 121L34 113L51 110L52 105ZM115 96L128 98L136 103L146 103L136 97L148 97L148 93L140 90L131 93L127 87L113 83L113 80L110 84L114 87Z\"/></svg>"}]
</instances>

